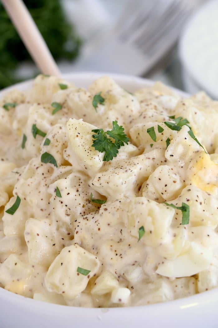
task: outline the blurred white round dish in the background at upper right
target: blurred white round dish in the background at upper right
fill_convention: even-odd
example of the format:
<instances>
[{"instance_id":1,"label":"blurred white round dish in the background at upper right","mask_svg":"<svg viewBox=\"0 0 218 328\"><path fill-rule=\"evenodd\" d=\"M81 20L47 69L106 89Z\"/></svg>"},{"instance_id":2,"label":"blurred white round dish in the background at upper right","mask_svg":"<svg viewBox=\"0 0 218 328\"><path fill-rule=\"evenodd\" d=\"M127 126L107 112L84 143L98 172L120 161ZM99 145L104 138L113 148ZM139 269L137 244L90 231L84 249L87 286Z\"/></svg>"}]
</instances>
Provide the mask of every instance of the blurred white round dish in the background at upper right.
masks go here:
<instances>
[{"instance_id":1,"label":"blurred white round dish in the background at upper right","mask_svg":"<svg viewBox=\"0 0 218 328\"><path fill-rule=\"evenodd\" d=\"M187 92L206 91L218 99L218 1L210 0L190 17L179 42Z\"/></svg>"}]
</instances>

